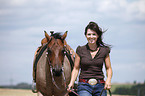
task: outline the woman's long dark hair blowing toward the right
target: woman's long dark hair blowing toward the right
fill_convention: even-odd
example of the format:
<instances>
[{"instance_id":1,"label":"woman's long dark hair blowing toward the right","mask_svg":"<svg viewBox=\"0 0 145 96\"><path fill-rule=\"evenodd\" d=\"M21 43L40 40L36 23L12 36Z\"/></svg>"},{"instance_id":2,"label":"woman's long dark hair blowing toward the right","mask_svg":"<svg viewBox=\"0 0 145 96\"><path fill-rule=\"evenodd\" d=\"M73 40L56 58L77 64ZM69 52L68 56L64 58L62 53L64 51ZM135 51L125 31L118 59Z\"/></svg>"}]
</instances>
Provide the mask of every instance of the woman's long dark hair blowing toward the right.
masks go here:
<instances>
[{"instance_id":1,"label":"woman's long dark hair blowing toward the right","mask_svg":"<svg viewBox=\"0 0 145 96\"><path fill-rule=\"evenodd\" d=\"M96 44L97 46L105 46L105 47L108 47L110 49L110 45L108 44L105 44L103 41L102 41L102 34L106 31L102 31L102 29L98 26L97 23L95 22L90 22L86 28L85 28L85 35L87 34L87 30L88 29L91 29L93 31L95 31L97 33L97 35L99 36L98 37L98 40L96 41Z\"/></svg>"}]
</instances>

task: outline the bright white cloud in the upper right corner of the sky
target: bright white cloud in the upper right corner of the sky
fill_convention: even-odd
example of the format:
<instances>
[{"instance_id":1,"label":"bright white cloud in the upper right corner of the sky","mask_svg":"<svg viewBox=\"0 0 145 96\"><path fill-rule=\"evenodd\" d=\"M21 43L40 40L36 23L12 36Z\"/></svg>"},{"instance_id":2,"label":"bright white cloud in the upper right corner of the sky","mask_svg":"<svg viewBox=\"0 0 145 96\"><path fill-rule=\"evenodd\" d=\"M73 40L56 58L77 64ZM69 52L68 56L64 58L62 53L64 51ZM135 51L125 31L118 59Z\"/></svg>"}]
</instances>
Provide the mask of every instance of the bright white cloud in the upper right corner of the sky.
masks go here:
<instances>
[{"instance_id":1,"label":"bright white cloud in the upper right corner of the sky","mask_svg":"<svg viewBox=\"0 0 145 96\"><path fill-rule=\"evenodd\" d=\"M145 1L135 0L129 2L127 0L101 0L95 3L96 10L105 13L107 16L122 18L126 21L134 19L145 20Z\"/></svg>"}]
</instances>

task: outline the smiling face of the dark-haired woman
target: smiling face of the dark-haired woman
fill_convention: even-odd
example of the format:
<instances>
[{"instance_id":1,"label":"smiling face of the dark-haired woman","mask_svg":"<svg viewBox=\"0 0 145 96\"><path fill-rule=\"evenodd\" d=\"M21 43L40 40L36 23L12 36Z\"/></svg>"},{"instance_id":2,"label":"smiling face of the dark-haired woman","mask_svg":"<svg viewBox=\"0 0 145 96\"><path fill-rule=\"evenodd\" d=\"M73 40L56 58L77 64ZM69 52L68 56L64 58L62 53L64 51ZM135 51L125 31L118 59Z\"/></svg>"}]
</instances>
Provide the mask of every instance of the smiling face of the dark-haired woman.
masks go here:
<instances>
[{"instance_id":1,"label":"smiling face of the dark-haired woman","mask_svg":"<svg viewBox=\"0 0 145 96\"><path fill-rule=\"evenodd\" d=\"M88 43L90 43L90 44L96 43L98 37L99 36L98 36L98 34L95 31L93 31L91 29L87 30L86 38L88 40Z\"/></svg>"}]
</instances>

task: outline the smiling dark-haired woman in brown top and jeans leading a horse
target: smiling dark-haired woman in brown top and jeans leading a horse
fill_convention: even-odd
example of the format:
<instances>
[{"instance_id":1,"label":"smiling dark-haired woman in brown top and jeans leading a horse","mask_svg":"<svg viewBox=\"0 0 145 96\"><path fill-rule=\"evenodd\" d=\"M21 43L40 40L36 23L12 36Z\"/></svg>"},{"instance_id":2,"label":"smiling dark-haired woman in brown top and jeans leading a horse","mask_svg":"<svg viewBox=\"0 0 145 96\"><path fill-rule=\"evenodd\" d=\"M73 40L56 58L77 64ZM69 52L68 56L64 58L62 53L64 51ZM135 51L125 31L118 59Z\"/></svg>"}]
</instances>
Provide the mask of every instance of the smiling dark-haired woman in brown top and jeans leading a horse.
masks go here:
<instances>
[{"instance_id":1,"label":"smiling dark-haired woman in brown top and jeans leading a horse","mask_svg":"<svg viewBox=\"0 0 145 96\"><path fill-rule=\"evenodd\" d=\"M77 47L75 64L68 90L73 87L81 68L77 88L80 96L99 96L103 89L111 88L110 48L102 42L102 34L101 28L95 22L90 22L85 28L85 36L88 43ZM102 71L103 63L105 63L106 67L106 81L104 81ZM102 96L107 96L106 90Z\"/></svg>"}]
</instances>

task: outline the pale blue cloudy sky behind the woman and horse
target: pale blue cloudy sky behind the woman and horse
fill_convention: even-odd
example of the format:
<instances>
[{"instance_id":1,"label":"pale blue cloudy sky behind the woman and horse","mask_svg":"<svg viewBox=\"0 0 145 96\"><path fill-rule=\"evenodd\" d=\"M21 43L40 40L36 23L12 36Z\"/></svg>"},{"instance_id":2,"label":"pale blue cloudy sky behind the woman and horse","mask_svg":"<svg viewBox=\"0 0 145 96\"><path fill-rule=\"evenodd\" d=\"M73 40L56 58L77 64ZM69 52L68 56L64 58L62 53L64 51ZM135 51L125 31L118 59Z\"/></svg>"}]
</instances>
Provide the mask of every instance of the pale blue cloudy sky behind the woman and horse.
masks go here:
<instances>
[{"instance_id":1,"label":"pale blue cloudy sky behind the woman and horse","mask_svg":"<svg viewBox=\"0 0 145 96\"><path fill-rule=\"evenodd\" d=\"M87 43L90 21L107 30L112 83L144 82L145 0L0 0L0 85L31 84L44 30L68 31L66 41L76 50Z\"/></svg>"}]
</instances>

